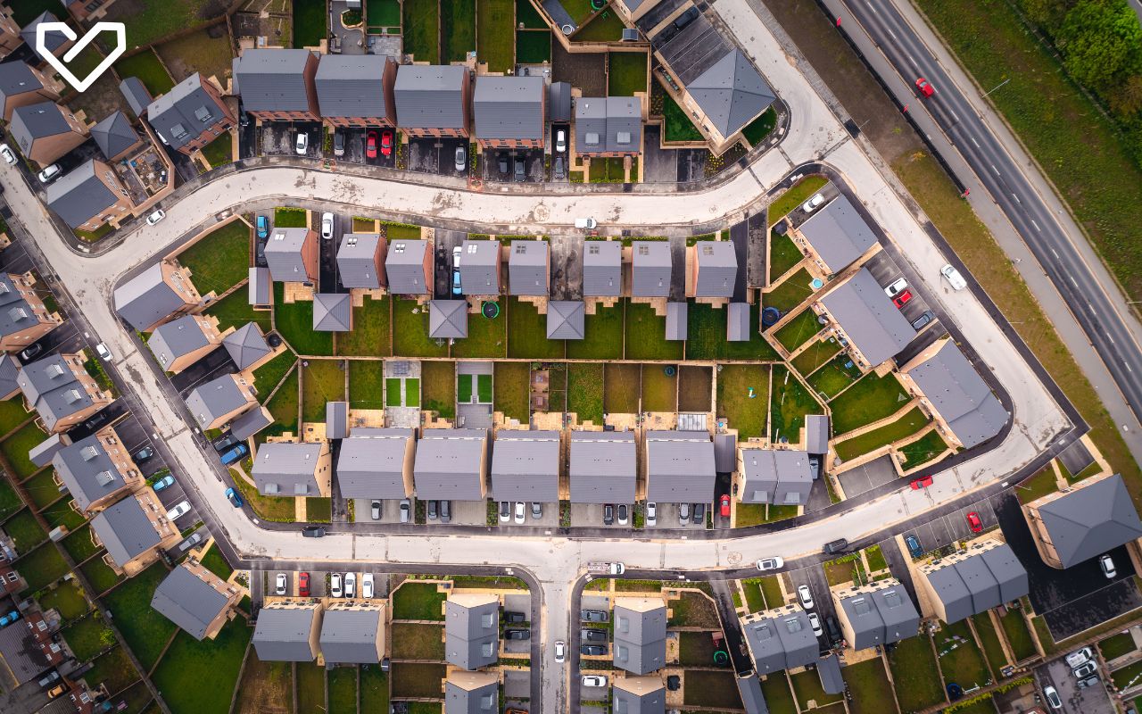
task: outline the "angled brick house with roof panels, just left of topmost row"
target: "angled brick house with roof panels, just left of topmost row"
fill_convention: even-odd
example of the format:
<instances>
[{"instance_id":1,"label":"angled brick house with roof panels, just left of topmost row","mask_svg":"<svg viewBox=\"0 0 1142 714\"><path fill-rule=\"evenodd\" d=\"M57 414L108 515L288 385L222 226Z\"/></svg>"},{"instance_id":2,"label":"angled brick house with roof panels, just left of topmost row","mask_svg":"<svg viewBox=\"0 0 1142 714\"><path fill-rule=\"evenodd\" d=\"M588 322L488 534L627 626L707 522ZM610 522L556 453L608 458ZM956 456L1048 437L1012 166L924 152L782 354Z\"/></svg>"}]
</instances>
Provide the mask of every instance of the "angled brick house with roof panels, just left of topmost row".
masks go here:
<instances>
[{"instance_id":1,"label":"angled brick house with roof panels, just left of topmost row","mask_svg":"<svg viewBox=\"0 0 1142 714\"><path fill-rule=\"evenodd\" d=\"M218 88L198 72L151 102L146 119L164 144L187 155L238 123Z\"/></svg>"}]
</instances>

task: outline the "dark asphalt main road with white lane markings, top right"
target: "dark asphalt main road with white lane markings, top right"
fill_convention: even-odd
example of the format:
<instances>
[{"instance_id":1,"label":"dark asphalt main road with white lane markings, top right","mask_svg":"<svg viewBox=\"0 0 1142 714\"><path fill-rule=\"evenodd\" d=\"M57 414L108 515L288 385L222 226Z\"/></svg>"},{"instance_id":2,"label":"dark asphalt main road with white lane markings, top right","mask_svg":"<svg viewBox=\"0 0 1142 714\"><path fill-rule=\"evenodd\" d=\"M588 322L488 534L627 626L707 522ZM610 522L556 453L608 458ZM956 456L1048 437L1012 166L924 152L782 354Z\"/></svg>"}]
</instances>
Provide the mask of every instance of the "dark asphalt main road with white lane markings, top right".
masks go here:
<instances>
[{"instance_id":1,"label":"dark asphalt main road with white lane markings, top right","mask_svg":"<svg viewBox=\"0 0 1142 714\"><path fill-rule=\"evenodd\" d=\"M850 2L846 7L906 82L924 77L933 85L935 96L917 97L910 103L916 107L912 111L923 105L973 167L1062 295L1135 418L1142 417L1142 350L1020 166L891 0ZM1073 240L1086 239L1079 235Z\"/></svg>"}]
</instances>

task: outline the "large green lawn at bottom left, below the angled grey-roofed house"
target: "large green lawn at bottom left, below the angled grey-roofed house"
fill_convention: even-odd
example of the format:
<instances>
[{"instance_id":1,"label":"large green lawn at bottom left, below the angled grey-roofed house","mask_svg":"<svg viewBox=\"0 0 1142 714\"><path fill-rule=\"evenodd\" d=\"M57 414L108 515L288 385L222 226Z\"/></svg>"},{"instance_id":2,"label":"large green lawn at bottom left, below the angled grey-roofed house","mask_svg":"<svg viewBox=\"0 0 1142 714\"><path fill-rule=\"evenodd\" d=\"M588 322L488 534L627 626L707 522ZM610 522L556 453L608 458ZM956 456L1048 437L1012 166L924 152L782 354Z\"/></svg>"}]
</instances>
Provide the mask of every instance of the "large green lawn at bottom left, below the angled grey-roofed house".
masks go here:
<instances>
[{"instance_id":1,"label":"large green lawn at bottom left, below the angled grey-roofed house","mask_svg":"<svg viewBox=\"0 0 1142 714\"><path fill-rule=\"evenodd\" d=\"M214 640L199 642L179 631L151 677L172 714L227 711L252 636L241 617L223 625Z\"/></svg>"}]
</instances>

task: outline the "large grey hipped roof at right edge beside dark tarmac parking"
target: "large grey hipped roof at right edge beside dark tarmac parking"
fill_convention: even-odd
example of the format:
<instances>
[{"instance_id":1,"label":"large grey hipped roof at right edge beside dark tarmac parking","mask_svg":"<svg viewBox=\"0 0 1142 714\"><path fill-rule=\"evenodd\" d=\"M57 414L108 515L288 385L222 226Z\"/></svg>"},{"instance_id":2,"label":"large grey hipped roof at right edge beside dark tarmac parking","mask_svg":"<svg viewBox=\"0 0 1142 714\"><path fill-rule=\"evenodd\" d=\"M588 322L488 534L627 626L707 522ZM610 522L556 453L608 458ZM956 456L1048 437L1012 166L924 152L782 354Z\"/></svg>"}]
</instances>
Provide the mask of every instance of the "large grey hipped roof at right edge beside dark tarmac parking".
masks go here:
<instances>
[{"instance_id":1,"label":"large grey hipped roof at right edge beside dark tarmac parking","mask_svg":"<svg viewBox=\"0 0 1142 714\"><path fill-rule=\"evenodd\" d=\"M1142 521L1118 474L1039 506L1063 568L1142 538Z\"/></svg>"}]
</instances>

